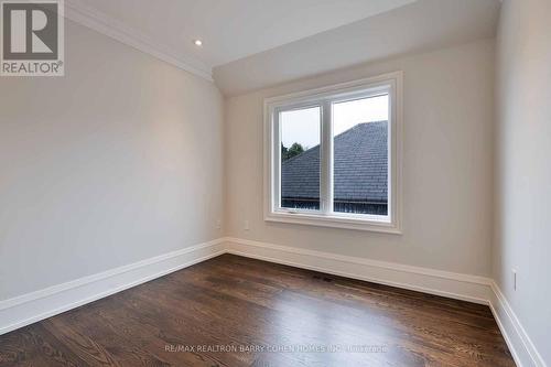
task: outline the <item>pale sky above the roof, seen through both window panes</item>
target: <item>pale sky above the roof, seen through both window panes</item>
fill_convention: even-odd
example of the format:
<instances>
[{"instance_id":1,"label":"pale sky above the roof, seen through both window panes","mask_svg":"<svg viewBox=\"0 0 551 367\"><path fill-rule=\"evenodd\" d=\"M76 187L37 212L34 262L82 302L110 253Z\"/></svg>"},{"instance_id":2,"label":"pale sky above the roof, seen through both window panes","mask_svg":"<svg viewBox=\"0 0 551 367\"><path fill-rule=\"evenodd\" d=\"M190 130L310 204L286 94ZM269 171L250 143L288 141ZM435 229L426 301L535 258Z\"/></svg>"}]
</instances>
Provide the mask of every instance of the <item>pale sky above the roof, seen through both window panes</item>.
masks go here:
<instances>
[{"instance_id":1,"label":"pale sky above the roof, seen through both window panes","mask_svg":"<svg viewBox=\"0 0 551 367\"><path fill-rule=\"evenodd\" d=\"M299 142L307 149L320 144L320 107L281 112L281 141L283 145L289 148L292 143ZM388 95L333 105L334 136L360 122L386 120L388 120Z\"/></svg>"}]
</instances>

